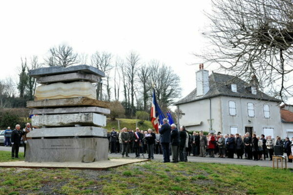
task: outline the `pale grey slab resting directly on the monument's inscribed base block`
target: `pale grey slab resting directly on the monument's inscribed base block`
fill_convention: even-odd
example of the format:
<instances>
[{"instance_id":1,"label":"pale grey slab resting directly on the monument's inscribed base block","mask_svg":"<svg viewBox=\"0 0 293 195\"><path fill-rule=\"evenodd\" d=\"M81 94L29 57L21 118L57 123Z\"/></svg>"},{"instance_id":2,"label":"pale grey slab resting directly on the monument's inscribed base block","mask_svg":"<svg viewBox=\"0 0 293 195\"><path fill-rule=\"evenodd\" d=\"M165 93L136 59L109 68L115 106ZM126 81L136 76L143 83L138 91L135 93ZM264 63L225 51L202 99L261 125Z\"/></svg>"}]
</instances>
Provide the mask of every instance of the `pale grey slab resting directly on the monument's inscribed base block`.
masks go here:
<instances>
[{"instance_id":1,"label":"pale grey slab resting directly on the monument's inscribed base block","mask_svg":"<svg viewBox=\"0 0 293 195\"><path fill-rule=\"evenodd\" d=\"M107 137L107 130L100 127L81 126L81 127L57 127L34 129L27 134L27 137L75 137L75 136L94 136Z\"/></svg>"}]
</instances>

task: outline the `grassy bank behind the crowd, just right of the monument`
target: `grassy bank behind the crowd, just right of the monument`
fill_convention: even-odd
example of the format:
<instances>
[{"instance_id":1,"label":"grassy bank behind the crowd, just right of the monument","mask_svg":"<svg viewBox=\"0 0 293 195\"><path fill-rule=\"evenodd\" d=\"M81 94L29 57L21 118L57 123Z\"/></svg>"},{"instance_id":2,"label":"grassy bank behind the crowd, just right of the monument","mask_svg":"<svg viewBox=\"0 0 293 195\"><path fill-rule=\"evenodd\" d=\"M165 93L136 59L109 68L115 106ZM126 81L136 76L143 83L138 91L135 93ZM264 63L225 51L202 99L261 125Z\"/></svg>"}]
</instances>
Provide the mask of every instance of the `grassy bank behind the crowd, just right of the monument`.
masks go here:
<instances>
[{"instance_id":1,"label":"grassy bank behind the crowd, just right of the monument","mask_svg":"<svg viewBox=\"0 0 293 195\"><path fill-rule=\"evenodd\" d=\"M105 129L107 129L108 131L112 130L112 127L114 127L116 130L118 130L118 121L120 120L120 129L126 127L128 129L132 129L135 130L136 128L136 121L139 121L138 119L127 119L127 118L117 118L116 120L110 120L109 118L107 118L107 126L105 127ZM138 128L140 128L140 130L148 130L148 129L152 129L152 124L150 121L145 120L144 124L139 124L137 123Z\"/></svg>"}]
</instances>

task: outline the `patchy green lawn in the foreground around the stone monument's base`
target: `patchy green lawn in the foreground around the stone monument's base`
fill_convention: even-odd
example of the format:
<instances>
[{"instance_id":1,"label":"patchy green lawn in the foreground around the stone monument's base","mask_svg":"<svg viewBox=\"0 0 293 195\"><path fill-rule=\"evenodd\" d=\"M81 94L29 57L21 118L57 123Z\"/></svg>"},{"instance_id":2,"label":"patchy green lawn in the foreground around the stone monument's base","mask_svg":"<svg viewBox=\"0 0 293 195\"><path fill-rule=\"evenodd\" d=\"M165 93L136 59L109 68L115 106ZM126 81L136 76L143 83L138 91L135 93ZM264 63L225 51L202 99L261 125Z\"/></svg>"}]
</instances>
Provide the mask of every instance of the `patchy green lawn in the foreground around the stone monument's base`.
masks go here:
<instances>
[{"instance_id":1,"label":"patchy green lawn in the foreground around the stone monument's base","mask_svg":"<svg viewBox=\"0 0 293 195\"><path fill-rule=\"evenodd\" d=\"M0 168L1 195L289 195L292 186L292 170L214 163L148 161L107 171Z\"/></svg>"}]
</instances>

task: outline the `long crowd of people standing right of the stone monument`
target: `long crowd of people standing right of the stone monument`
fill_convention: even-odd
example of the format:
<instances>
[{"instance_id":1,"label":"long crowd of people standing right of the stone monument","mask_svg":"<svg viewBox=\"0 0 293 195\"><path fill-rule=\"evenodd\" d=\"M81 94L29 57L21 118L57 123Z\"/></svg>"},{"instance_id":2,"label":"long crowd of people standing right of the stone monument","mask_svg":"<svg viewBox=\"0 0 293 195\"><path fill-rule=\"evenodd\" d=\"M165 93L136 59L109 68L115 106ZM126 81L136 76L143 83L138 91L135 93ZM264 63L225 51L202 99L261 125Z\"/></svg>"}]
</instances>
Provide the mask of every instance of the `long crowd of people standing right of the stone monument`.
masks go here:
<instances>
[{"instance_id":1,"label":"long crowd of people standing right of the stone monument","mask_svg":"<svg viewBox=\"0 0 293 195\"><path fill-rule=\"evenodd\" d=\"M288 162L292 162L289 156L293 155L293 137L281 137L273 139L272 136L257 136L246 133L217 134L204 132L193 132L188 134L185 126L177 129L175 124L169 125L167 119L163 120L163 125L159 132L148 129L148 131L136 128L135 132L131 129L123 128L116 132L114 128L109 133L110 153L121 153L128 156L128 153L135 153L136 157L148 154L148 159L153 159L154 154L163 154L164 161L170 162L169 156L172 155L172 162L187 161L188 156L217 157L249 159L249 160L272 160L273 155L283 155L286 153Z\"/></svg>"}]
</instances>

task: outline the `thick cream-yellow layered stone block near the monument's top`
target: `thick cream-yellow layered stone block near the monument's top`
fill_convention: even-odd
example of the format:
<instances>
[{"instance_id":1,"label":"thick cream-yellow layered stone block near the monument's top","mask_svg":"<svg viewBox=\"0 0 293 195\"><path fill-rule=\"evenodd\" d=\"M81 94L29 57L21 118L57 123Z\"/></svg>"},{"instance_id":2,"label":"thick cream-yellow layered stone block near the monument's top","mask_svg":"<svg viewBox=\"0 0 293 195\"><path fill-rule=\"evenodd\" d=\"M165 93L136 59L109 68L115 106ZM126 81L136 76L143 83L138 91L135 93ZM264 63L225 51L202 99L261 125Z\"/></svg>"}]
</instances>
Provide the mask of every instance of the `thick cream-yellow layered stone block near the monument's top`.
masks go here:
<instances>
[{"instance_id":1,"label":"thick cream-yellow layered stone block near the monument's top","mask_svg":"<svg viewBox=\"0 0 293 195\"><path fill-rule=\"evenodd\" d=\"M35 100L78 98L97 99L95 87L90 82L53 83L37 87Z\"/></svg>"}]
</instances>

